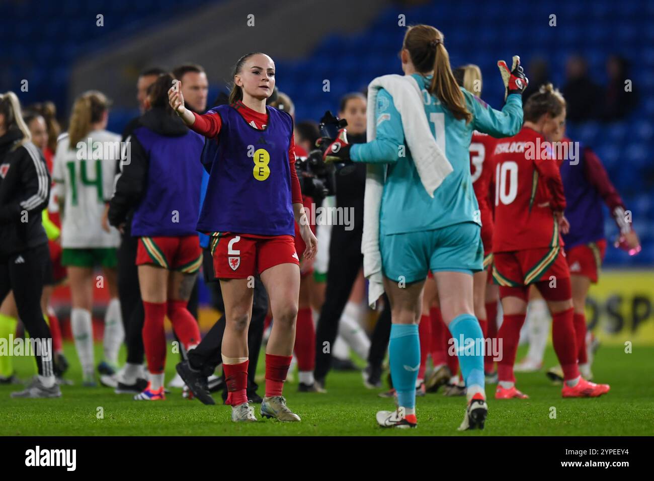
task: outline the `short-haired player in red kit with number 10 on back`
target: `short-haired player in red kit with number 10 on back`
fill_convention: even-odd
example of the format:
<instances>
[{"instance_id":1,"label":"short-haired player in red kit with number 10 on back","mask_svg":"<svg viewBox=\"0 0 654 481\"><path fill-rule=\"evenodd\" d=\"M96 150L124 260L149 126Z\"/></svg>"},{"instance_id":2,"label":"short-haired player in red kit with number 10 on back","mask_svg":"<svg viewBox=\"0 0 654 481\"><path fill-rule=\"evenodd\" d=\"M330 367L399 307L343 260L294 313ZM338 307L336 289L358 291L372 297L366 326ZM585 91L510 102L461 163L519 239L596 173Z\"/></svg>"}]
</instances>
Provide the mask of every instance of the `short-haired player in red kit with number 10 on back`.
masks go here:
<instances>
[{"instance_id":1,"label":"short-haired player in red kit with number 10 on back","mask_svg":"<svg viewBox=\"0 0 654 481\"><path fill-rule=\"evenodd\" d=\"M556 138L566 118L566 103L551 84L525 103L525 124L513 137L498 141L495 167L495 230L492 275L500 285L504 322L498 332L495 399L526 399L515 388L513 363L525 322L528 289L536 285L552 314L554 349L564 373L563 397L597 397L607 384L581 377L577 364L570 271L560 234L570 224L559 166L547 139Z\"/></svg>"}]
</instances>

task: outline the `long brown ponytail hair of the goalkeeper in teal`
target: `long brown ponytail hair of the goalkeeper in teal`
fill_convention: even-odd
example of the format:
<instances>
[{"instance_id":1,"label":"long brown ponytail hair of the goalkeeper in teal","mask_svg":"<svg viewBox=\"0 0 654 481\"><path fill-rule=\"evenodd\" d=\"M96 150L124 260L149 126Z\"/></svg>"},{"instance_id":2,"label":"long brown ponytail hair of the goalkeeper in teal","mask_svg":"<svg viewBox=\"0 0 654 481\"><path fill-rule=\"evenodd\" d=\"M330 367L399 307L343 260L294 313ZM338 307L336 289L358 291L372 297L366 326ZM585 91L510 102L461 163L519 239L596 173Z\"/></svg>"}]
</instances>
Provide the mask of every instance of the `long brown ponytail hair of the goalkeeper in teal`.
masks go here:
<instances>
[{"instance_id":1,"label":"long brown ponytail hair of the goalkeeper in teal","mask_svg":"<svg viewBox=\"0 0 654 481\"><path fill-rule=\"evenodd\" d=\"M415 69L422 74L434 71L432 83L427 92L436 96L456 120L472 120L472 114L466 107L466 99L458 87L449 54L443 45L443 34L429 25L415 25L407 29L402 48L409 51L409 57Z\"/></svg>"}]
</instances>

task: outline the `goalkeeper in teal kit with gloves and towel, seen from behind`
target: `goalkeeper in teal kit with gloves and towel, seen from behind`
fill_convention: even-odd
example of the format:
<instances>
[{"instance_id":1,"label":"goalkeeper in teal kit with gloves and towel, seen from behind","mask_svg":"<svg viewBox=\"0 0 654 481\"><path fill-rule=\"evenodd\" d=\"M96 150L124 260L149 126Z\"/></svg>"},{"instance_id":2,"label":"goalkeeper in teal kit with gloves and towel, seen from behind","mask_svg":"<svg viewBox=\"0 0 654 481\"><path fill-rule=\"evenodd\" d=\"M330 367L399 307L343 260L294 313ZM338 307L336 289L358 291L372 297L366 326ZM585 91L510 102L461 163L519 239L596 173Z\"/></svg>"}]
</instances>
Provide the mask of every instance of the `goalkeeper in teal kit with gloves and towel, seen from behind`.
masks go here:
<instances>
[{"instance_id":1,"label":"goalkeeper in teal kit with gloves and towel, seen from behind","mask_svg":"<svg viewBox=\"0 0 654 481\"><path fill-rule=\"evenodd\" d=\"M369 105L375 105L374 118L368 120L368 130L376 130L376 138L365 144L348 145L343 134L335 141L322 143L325 160L387 166L381 176L381 205L378 210L368 210L369 194L371 197L374 194L367 182L364 213L368 216L364 219L365 265L368 255L366 227L370 221L375 221L371 217L379 212L383 290L390 298L392 310L388 351L393 385L398 395L398 410L378 412L377 422L383 427L417 426L418 323L422 288L431 270L438 285L443 320L454 339L451 342L455 343L466 382L468 404L459 429L483 429L487 416L483 351L469 346L471 342L475 343L473 346L484 346L479 322L473 315L472 295L472 274L483 269L484 249L479 207L470 177L468 147L473 130L493 137L508 137L519 132L523 123L521 94L527 80L522 67L519 67L519 58L514 57L510 71L506 63L498 62L507 98L501 112L491 109L481 99L458 87L443 46L443 34L431 26L407 29L401 58L405 77L379 77L371 82L368 90ZM371 96L373 86L378 90ZM389 90L398 92L396 98ZM371 104L370 99L375 95L376 102ZM415 103L419 96L421 102ZM421 104L424 109L416 112ZM418 107L411 111L409 105ZM429 129L425 126L424 136L417 139L418 133L422 132L420 127L421 122L424 125L424 116ZM434 139L434 149L445 154L441 155L442 160L438 160L438 156L421 157L423 145L434 143ZM426 190L429 183L426 177L430 174L425 172L430 168L433 170L434 165L429 164L436 162L441 162L439 168L442 168L443 178L434 178L436 182L432 186L435 190ZM376 224L372 230L377 230ZM368 272L366 276L372 289L372 277ZM466 346L468 348L464 349Z\"/></svg>"}]
</instances>

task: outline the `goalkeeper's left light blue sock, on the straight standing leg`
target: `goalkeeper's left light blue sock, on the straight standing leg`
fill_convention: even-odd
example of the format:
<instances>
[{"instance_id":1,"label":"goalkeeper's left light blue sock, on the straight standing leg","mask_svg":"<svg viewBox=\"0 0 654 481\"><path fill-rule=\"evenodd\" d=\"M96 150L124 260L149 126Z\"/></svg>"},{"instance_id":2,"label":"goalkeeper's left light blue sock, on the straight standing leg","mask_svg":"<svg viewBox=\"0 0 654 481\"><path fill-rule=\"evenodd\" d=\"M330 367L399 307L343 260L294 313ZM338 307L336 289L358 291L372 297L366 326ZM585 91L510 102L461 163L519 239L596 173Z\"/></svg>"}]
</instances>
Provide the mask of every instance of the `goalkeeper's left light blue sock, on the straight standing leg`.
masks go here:
<instances>
[{"instance_id":1,"label":"goalkeeper's left light blue sock, on the straight standing leg","mask_svg":"<svg viewBox=\"0 0 654 481\"><path fill-rule=\"evenodd\" d=\"M407 409L415 408L415 382L420 368L420 338L417 324L393 324L390 326L390 376L398 393L398 404Z\"/></svg>"}]
</instances>

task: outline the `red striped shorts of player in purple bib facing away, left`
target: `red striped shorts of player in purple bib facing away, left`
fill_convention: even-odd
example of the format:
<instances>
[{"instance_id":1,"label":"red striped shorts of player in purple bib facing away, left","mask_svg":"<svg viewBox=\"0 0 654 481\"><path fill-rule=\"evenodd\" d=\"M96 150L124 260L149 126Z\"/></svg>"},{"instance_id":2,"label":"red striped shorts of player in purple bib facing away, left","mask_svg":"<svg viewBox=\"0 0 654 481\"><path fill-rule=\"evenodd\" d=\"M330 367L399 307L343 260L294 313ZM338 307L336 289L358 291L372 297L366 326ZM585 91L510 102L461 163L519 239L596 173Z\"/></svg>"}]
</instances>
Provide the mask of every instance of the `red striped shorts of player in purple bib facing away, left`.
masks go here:
<instances>
[{"instance_id":1,"label":"red striped shorts of player in purple bib facing away, left","mask_svg":"<svg viewBox=\"0 0 654 481\"><path fill-rule=\"evenodd\" d=\"M139 238L136 265L143 264L195 274L202 265L198 236Z\"/></svg>"}]
</instances>

